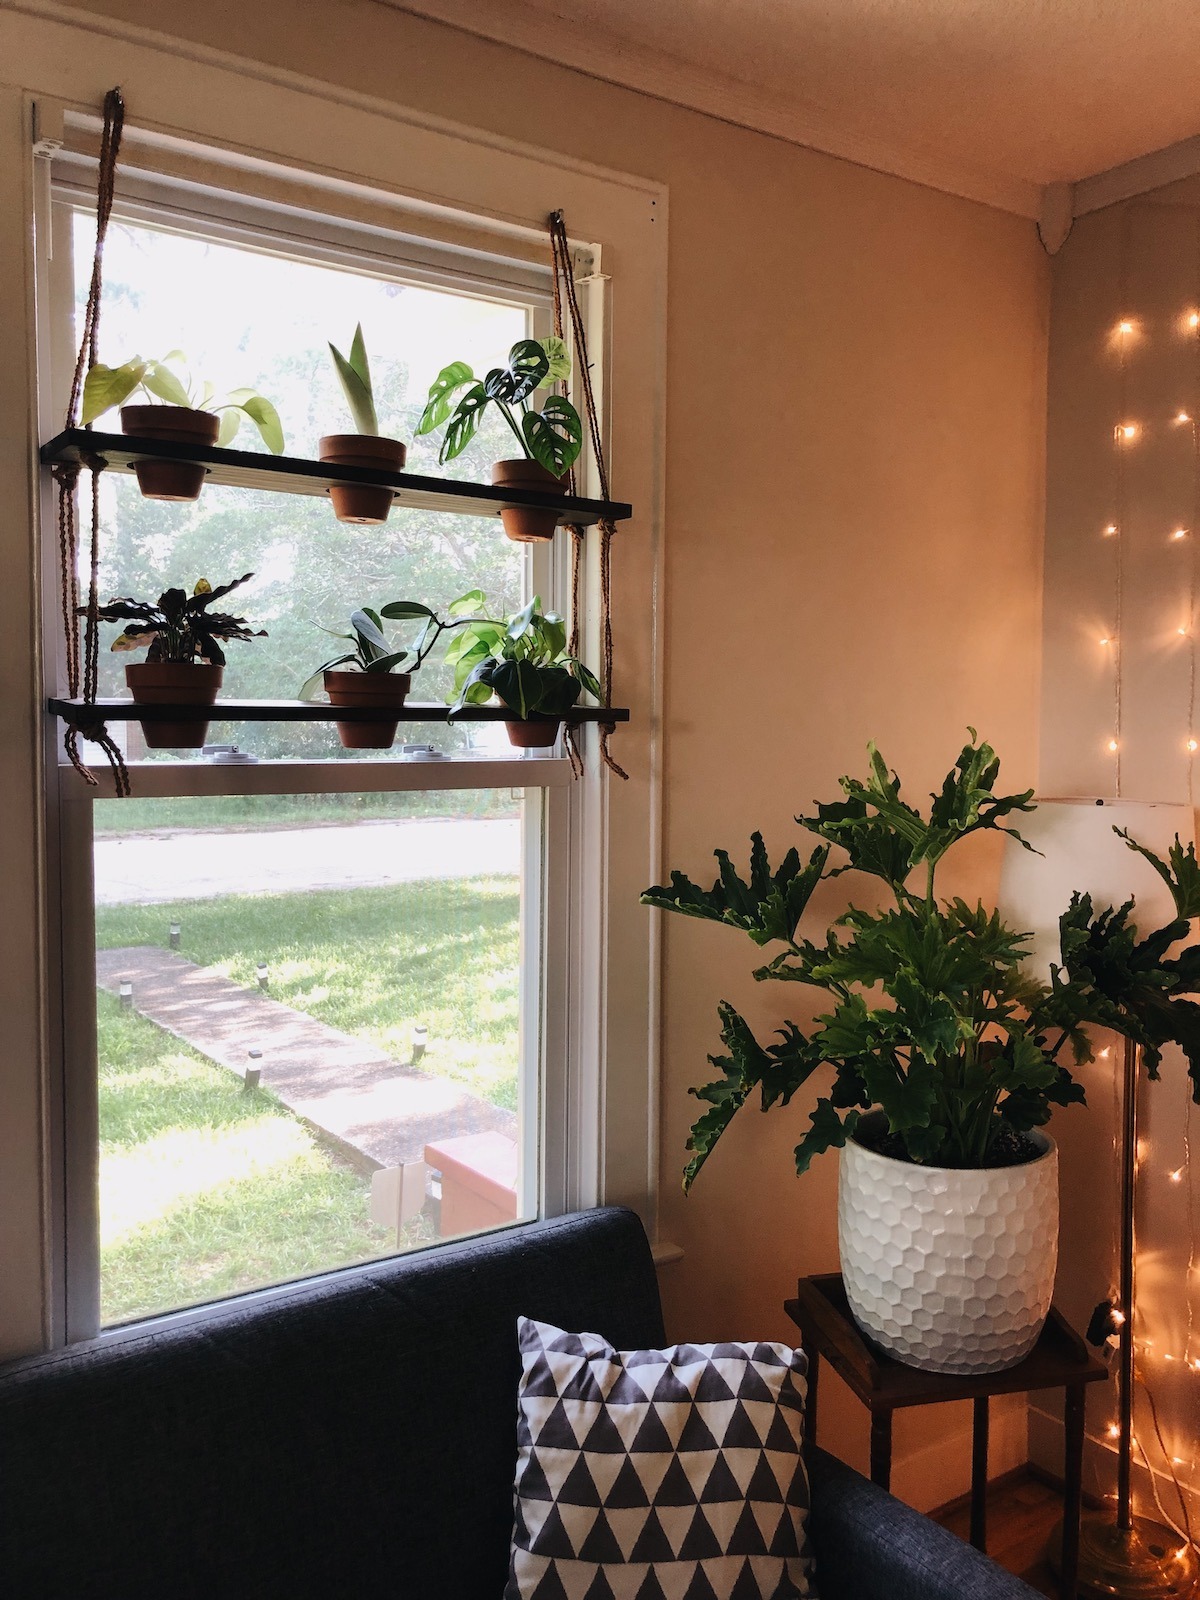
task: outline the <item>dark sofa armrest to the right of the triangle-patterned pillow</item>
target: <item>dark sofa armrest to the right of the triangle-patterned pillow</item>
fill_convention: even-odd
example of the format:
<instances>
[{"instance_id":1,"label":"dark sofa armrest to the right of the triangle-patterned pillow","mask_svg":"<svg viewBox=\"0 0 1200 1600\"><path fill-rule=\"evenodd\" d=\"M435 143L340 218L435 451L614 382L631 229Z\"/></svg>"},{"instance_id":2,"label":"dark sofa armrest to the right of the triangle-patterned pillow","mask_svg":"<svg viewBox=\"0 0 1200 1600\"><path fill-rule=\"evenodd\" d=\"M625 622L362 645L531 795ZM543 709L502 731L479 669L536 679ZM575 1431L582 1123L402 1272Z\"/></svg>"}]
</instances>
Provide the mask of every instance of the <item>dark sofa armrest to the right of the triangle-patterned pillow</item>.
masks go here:
<instances>
[{"instance_id":1,"label":"dark sofa armrest to the right of the triangle-patterned pillow","mask_svg":"<svg viewBox=\"0 0 1200 1600\"><path fill-rule=\"evenodd\" d=\"M1038 1600L936 1522L814 1450L808 1523L821 1600Z\"/></svg>"}]
</instances>

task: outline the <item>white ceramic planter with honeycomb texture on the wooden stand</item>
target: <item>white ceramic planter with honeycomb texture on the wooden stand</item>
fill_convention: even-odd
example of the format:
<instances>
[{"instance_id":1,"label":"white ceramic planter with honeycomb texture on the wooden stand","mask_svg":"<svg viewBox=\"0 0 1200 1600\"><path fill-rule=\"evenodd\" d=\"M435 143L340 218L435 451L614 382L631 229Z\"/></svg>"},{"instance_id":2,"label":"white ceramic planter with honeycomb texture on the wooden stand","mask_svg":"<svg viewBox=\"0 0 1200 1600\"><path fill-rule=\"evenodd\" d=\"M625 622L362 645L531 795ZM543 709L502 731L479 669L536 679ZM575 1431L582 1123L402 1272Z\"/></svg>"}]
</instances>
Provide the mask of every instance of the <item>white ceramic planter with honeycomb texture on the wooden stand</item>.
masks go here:
<instances>
[{"instance_id":1,"label":"white ceramic planter with honeycomb texture on the wooden stand","mask_svg":"<svg viewBox=\"0 0 1200 1600\"><path fill-rule=\"evenodd\" d=\"M1037 1342L1058 1262L1058 1149L960 1171L842 1150L846 1299L877 1344L931 1373L1000 1373Z\"/></svg>"}]
</instances>

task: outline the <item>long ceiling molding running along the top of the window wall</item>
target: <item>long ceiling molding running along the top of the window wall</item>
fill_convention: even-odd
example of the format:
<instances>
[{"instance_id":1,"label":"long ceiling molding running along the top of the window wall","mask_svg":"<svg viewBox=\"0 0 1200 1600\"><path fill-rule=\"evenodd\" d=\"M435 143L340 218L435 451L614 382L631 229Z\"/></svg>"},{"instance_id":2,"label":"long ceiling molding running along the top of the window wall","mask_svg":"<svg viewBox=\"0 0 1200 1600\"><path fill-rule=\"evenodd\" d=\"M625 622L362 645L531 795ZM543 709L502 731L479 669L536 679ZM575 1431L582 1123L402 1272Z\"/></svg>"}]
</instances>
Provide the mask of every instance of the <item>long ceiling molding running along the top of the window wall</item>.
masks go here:
<instances>
[{"instance_id":1,"label":"long ceiling molding running along the top of the window wall","mask_svg":"<svg viewBox=\"0 0 1200 1600\"><path fill-rule=\"evenodd\" d=\"M379 0L397 11L445 22L493 43L571 67L589 77L637 90L654 99L770 133L789 144L837 155L858 166L906 178L976 200L1016 216L1037 219L1042 186L1003 173L979 171L936 150L922 150L864 133L837 112L813 102L786 101L739 78L706 72L629 40L581 27L565 16L534 11L522 0Z\"/></svg>"}]
</instances>

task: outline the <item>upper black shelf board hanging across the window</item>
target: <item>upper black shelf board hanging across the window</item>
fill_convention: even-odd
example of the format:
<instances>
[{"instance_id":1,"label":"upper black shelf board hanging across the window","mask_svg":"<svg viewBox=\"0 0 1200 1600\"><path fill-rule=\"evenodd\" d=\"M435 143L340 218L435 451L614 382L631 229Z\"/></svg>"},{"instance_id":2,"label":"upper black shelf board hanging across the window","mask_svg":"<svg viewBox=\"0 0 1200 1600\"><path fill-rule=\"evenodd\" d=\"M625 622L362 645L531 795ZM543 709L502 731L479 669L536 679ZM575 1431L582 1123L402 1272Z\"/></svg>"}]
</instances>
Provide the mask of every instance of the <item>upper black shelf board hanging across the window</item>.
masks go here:
<instances>
[{"instance_id":1,"label":"upper black shelf board hanging across the window","mask_svg":"<svg viewBox=\"0 0 1200 1600\"><path fill-rule=\"evenodd\" d=\"M218 450L216 445L178 445L165 438L131 438L126 434L94 434L72 427L42 446L42 464L80 464L98 458L114 472L133 472L134 461L192 461L208 472L208 483L266 490L274 494L328 494L331 483L370 483L390 488L397 507L445 510L459 517L496 517L509 506L533 506L560 512L560 523L587 526L606 517L627 522L634 507L622 501L594 501L533 490L504 490L491 483L459 483L427 478L416 472L379 472L374 467L334 467L299 456L269 456L250 450Z\"/></svg>"}]
</instances>

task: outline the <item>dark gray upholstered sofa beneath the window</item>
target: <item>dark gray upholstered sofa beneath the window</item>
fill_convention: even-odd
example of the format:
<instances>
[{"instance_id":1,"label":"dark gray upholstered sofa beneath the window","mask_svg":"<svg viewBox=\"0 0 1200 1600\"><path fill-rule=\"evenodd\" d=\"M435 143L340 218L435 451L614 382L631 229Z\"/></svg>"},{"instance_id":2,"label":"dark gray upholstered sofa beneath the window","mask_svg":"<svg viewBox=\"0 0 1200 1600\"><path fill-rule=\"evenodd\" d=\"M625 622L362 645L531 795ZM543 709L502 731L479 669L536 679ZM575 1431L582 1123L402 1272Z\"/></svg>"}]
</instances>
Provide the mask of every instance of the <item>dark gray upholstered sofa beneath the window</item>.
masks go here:
<instances>
[{"instance_id":1,"label":"dark gray upholstered sofa beneath the window","mask_svg":"<svg viewBox=\"0 0 1200 1600\"><path fill-rule=\"evenodd\" d=\"M618 1208L0 1371L3 1600L499 1600L518 1314L662 1342ZM747 1336L754 1330L742 1330ZM1029 1600L821 1451L824 1600Z\"/></svg>"}]
</instances>

